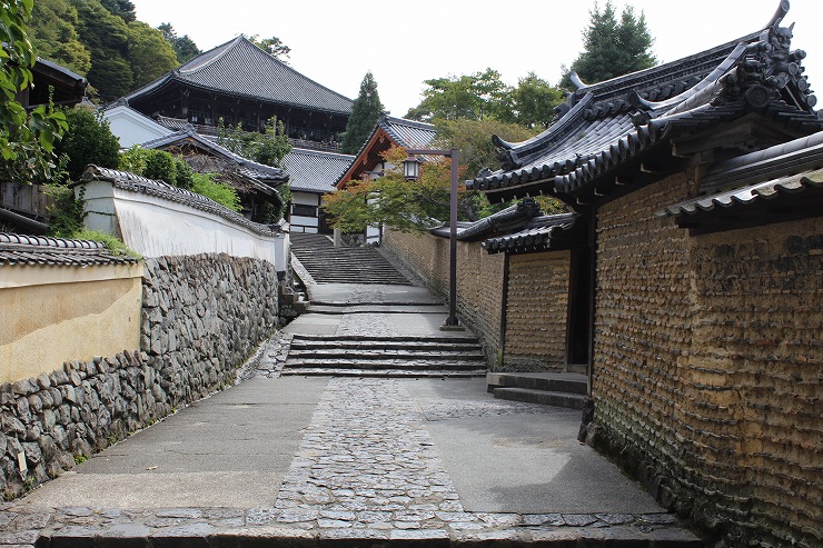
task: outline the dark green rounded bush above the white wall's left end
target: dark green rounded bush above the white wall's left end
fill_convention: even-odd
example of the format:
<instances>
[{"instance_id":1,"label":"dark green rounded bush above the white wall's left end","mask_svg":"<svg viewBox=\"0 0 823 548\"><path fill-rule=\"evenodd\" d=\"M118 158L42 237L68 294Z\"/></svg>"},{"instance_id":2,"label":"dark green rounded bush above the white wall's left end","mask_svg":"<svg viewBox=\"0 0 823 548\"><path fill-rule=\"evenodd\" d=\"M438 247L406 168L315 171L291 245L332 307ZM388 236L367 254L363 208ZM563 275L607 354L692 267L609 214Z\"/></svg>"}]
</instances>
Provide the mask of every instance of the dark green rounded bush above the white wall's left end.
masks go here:
<instances>
[{"instance_id":1,"label":"dark green rounded bush above the white wall's left end","mask_svg":"<svg viewBox=\"0 0 823 548\"><path fill-rule=\"evenodd\" d=\"M101 113L90 108L77 107L63 110L68 130L54 147L54 153L62 159L66 178L80 179L89 163L102 168L117 168L120 143L111 133L109 122Z\"/></svg>"}]
</instances>

